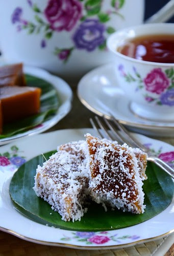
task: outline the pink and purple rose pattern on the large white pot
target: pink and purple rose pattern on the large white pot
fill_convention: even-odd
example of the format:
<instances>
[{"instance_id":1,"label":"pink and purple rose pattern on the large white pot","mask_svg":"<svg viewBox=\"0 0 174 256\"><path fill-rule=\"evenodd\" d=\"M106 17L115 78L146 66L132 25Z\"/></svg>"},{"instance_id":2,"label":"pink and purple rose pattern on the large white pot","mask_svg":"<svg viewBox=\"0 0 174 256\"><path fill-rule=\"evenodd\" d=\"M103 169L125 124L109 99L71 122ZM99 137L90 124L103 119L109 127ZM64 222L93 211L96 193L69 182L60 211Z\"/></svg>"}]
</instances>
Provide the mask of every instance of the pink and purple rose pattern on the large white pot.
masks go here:
<instances>
[{"instance_id":1,"label":"pink and purple rose pattern on the large white pot","mask_svg":"<svg viewBox=\"0 0 174 256\"><path fill-rule=\"evenodd\" d=\"M18 32L26 30L43 34L40 47L45 48L54 33L71 33L72 46L53 49L60 60L66 62L74 49L92 52L95 49L106 50L106 35L115 32L107 23L112 15L124 17L119 10L125 0L111 0L110 9L103 11L103 0L48 0L45 9L41 10L32 0L27 0L33 11L33 20L23 17L22 8L16 7L11 15L12 24Z\"/></svg>"}]
</instances>

